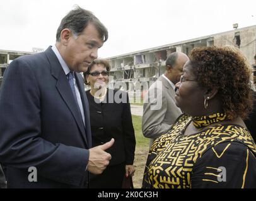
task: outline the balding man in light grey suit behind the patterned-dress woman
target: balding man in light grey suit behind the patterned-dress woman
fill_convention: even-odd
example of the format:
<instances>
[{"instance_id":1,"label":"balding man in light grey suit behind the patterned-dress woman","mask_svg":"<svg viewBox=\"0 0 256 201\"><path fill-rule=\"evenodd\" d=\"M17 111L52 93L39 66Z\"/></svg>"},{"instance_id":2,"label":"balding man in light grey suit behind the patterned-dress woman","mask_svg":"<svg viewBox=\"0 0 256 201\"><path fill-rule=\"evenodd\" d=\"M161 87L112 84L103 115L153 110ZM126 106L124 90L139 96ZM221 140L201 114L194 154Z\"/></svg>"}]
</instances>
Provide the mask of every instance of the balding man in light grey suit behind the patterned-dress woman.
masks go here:
<instances>
[{"instance_id":1,"label":"balding man in light grey suit behind the patterned-dress woman","mask_svg":"<svg viewBox=\"0 0 256 201\"><path fill-rule=\"evenodd\" d=\"M146 138L154 139L165 134L182 111L175 105L175 84L180 81L183 65L189 57L174 52L166 59L166 71L149 87L143 106L142 130Z\"/></svg>"}]
</instances>

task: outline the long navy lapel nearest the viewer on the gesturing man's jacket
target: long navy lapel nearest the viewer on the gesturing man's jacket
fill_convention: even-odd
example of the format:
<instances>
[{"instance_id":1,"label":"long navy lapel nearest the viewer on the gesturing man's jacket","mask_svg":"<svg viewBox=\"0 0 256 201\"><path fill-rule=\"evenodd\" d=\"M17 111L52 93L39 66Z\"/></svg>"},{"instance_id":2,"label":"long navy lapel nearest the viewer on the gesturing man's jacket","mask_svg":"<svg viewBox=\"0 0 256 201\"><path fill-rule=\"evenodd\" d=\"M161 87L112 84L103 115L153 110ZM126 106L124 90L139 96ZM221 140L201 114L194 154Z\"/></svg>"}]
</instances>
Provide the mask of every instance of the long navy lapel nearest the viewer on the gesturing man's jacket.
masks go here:
<instances>
[{"instance_id":1,"label":"long navy lapel nearest the viewer on the gesturing man's jacket","mask_svg":"<svg viewBox=\"0 0 256 201\"><path fill-rule=\"evenodd\" d=\"M83 136L84 143L88 145L83 125L83 119L81 118L81 114L79 113L79 108L76 105L76 101L74 100L71 87L64 73L64 70L61 67L61 63L59 63L59 60L56 57L55 53L52 51L51 47L45 50L45 54L47 55L47 58L50 62L52 76L55 77L55 79L57 79L56 88L59 94L61 95L62 99L66 103L67 107L73 114L76 124L78 125L78 128Z\"/></svg>"}]
</instances>

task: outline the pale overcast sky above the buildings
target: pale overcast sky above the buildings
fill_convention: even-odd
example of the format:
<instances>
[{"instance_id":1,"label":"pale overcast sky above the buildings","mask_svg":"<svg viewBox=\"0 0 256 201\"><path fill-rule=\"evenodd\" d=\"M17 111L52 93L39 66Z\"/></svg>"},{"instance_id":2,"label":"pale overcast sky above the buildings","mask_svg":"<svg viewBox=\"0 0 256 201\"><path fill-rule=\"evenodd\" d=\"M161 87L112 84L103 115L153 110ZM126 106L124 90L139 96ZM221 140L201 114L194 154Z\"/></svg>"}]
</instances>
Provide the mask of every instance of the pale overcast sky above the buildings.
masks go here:
<instances>
[{"instance_id":1,"label":"pale overcast sky above the buildings","mask_svg":"<svg viewBox=\"0 0 256 201\"><path fill-rule=\"evenodd\" d=\"M108 28L99 57L256 25L255 0L3 0L0 50L31 52L55 43L61 19L78 4Z\"/></svg>"}]
</instances>

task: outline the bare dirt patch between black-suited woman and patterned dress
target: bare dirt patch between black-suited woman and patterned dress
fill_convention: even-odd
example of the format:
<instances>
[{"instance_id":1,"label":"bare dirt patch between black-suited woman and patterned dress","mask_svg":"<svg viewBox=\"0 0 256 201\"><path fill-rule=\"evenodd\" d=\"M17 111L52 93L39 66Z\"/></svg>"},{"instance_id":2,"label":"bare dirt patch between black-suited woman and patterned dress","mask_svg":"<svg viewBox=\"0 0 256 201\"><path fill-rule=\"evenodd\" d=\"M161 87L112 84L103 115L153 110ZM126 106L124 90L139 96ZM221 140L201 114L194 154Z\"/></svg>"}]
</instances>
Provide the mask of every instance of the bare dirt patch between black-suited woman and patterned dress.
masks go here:
<instances>
[{"instance_id":1,"label":"bare dirt patch between black-suited woman and patterned dress","mask_svg":"<svg viewBox=\"0 0 256 201\"><path fill-rule=\"evenodd\" d=\"M136 148L135 151L135 159L134 165L136 167L136 171L134 173L134 177L132 177L134 188L141 188L141 184L143 182L143 174L144 168L146 165L146 160L148 158L149 148Z\"/></svg>"}]
</instances>

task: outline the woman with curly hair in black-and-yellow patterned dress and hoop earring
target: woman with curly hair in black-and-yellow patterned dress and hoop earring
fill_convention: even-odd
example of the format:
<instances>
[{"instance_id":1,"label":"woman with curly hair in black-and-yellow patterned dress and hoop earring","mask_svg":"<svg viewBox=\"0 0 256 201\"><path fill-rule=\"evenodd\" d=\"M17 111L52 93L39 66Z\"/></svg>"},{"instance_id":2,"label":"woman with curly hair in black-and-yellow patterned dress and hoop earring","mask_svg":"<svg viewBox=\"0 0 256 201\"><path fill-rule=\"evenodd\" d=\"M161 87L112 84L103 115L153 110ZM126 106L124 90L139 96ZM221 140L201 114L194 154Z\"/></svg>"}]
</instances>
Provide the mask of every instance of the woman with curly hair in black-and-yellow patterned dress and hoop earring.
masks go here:
<instances>
[{"instance_id":1,"label":"woman with curly hair in black-and-yellow patterned dress and hoop earring","mask_svg":"<svg viewBox=\"0 0 256 201\"><path fill-rule=\"evenodd\" d=\"M246 58L231 48L190 52L175 103L184 114L149 151L143 188L256 188L256 144Z\"/></svg>"}]
</instances>

